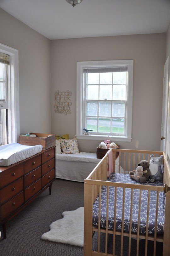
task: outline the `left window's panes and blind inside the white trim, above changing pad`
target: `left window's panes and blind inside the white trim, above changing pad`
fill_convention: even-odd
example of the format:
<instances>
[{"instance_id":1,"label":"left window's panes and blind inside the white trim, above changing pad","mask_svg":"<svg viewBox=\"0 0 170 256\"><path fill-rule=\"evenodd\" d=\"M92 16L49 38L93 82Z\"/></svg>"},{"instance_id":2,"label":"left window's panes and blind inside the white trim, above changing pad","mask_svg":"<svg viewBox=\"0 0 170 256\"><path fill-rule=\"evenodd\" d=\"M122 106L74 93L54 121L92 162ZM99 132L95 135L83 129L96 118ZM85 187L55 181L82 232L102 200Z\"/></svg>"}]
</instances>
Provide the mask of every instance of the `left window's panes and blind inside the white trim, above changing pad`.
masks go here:
<instances>
[{"instance_id":1,"label":"left window's panes and blind inside the white trim, above changing pad","mask_svg":"<svg viewBox=\"0 0 170 256\"><path fill-rule=\"evenodd\" d=\"M8 143L9 55L0 53L0 145Z\"/></svg>"}]
</instances>

